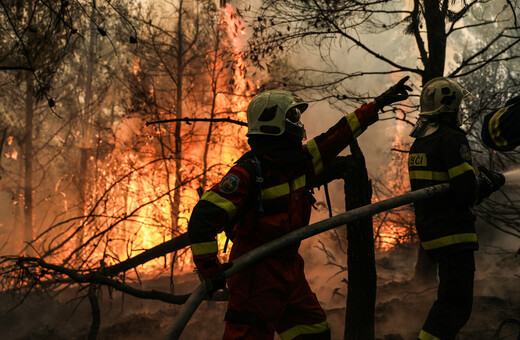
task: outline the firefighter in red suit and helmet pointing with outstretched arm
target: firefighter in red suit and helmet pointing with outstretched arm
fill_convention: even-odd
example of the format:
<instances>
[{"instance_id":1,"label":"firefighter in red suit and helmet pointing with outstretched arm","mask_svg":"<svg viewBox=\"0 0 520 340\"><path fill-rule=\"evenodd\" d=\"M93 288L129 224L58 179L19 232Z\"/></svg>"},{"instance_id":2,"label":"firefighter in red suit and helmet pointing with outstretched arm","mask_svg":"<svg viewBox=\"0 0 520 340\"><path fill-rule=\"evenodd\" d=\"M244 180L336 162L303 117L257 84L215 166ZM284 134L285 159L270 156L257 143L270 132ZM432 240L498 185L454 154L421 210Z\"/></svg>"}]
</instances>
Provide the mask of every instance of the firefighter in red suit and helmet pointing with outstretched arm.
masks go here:
<instances>
[{"instance_id":1,"label":"firefighter in red suit and helmet pointing with outstretched arm","mask_svg":"<svg viewBox=\"0 0 520 340\"><path fill-rule=\"evenodd\" d=\"M226 284L215 235L233 234L230 261L309 223L313 197L306 184L350 142L378 120L385 105L404 100L401 79L375 99L302 145L300 120L308 104L289 91L270 90L247 108L251 151L205 192L188 225L193 258L208 293ZM330 328L304 274L299 244L272 254L227 280L224 339L330 339Z\"/></svg>"}]
</instances>

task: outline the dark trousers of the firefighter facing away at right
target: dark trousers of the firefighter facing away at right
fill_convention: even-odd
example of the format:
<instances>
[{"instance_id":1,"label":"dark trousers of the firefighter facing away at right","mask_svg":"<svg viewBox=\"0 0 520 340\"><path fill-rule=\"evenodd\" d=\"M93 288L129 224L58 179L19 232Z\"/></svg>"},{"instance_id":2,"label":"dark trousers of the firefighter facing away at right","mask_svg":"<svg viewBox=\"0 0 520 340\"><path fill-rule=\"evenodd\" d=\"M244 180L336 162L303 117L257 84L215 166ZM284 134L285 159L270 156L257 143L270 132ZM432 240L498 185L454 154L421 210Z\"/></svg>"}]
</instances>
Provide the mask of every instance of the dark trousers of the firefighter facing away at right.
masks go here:
<instances>
[{"instance_id":1,"label":"dark trousers of the firefighter facing away at right","mask_svg":"<svg viewBox=\"0 0 520 340\"><path fill-rule=\"evenodd\" d=\"M475 257L460 250L439 261L439 289L420 339L452 340L471 315Z\"/></svg>"}]
</instances>

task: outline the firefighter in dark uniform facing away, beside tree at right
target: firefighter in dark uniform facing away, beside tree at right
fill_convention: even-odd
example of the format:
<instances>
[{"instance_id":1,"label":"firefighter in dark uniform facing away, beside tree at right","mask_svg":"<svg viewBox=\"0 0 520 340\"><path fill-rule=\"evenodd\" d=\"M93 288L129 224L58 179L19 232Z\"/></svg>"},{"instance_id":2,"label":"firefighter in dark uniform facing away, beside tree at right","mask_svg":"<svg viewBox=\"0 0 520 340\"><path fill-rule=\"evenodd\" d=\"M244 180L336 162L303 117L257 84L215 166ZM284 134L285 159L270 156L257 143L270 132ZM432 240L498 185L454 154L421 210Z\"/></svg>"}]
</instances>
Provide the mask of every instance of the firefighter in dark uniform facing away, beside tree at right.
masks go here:
<instances>
[{"instance_id":1,"label":"firefighter in dark uniform facing away, beside tree at right","mask_svg":"<svg viewBox=\"0 0 520 340\"><path fill-rule=\"evenodd\" d=\"M479 167L475 176L459 106L464 90L452 79L427 82L411 136L408 158L412 190L449 182L448 195L416 202L415 223L421 246L438 264L437 300L419 334L422 340L455 339L471 314L474 251L478 249L471 207L498 190L504 176Z\"/></svg>"}]
</instances>

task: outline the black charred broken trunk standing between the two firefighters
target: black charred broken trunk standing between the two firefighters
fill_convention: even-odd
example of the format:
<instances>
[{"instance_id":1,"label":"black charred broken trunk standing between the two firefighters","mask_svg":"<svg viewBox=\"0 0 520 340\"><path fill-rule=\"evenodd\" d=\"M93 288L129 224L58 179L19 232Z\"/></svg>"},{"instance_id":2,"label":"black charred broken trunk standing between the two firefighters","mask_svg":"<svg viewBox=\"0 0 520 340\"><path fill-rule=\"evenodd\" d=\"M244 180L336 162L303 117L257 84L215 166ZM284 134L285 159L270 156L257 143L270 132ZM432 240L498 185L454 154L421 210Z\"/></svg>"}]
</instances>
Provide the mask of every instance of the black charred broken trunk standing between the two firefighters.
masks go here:
<instances>
[{"instance_id":1,"label":"black charred broken trunk standing between the two firefighters","mask_svg":"<svg viewBox=\"0 0 520 340\"><path fill-rule=\"evenodd\" d=\"M365 157L354 141L350 145L352 165L345 173L346 210L371 203L372 184ZM348 295L345 315L346 340L374 339L376 265L372 217L347 224Z\"/></svg>"}]
</instances>

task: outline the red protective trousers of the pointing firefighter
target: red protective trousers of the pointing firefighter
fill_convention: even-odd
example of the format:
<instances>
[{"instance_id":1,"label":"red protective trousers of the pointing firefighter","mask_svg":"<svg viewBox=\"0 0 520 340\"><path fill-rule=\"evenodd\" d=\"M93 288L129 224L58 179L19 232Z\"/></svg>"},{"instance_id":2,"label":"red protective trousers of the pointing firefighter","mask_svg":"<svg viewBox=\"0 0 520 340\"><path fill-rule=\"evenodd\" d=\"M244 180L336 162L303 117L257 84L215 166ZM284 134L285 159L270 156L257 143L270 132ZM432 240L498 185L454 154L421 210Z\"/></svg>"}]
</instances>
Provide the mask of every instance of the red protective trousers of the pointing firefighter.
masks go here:
<instances>
[{"instance_id":1,"label":"red protective trousers of the pointing firefighter","mask_svg":"<svg viewBox=\"0 0 520 340\"><path fill-rule=\"evenodd\" d=\"M282 339L328 330L299 254L271 257L228 279L224 339ZM312 334L312 333L311 333Z\"/></svg>"}]
</instances>

